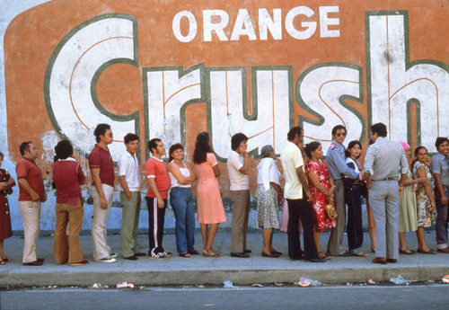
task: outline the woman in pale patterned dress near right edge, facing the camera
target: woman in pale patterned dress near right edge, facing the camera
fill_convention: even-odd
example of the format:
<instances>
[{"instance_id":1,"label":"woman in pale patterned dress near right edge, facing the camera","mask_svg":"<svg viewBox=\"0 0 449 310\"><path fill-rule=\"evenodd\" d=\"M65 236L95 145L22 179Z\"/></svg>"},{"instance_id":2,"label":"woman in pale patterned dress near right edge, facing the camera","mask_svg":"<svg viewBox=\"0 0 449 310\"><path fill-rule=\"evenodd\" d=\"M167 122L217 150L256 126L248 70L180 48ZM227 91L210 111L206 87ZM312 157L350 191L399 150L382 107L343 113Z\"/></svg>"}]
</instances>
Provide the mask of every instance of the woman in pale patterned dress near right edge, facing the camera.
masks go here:
<instances>
[{"instance_id":1,"label":"woman in pale patterned dress near right edge, facing the camera","mask_svg":"<svg viewBox=\"0 0 449 310\"><path fill-rule=\"evenodd\" d=\"M422 254L436 254L436 251L428 248L424 235L424 227L432 226L436 220L435 197L433 186L431 185L433 177L428 165L427 148L425 146L415 148L415 158L411 164L413 179L427 179L427 182L424 182L424 184L418 184L418 190L416 191L418 208L418 252Z\"/></svg>"}]
</instances>

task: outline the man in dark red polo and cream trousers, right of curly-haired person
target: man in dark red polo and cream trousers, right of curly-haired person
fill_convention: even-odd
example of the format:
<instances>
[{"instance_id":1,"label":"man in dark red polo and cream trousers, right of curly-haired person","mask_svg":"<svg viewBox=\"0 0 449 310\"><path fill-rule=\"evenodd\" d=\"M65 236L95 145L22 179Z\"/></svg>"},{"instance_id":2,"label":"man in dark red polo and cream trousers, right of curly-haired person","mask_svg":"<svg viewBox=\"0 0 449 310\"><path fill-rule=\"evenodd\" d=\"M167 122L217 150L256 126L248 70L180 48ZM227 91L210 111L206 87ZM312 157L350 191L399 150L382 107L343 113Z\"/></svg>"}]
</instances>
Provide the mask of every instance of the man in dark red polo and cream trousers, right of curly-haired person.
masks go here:
<instances>
[{"instance_id":1,"label":"man in dark red polo and cream trousers, right of curly-haired person","mask_svg":"<svg viewBox=\"0 0 449 310\"><path fill-rule=\"evenodd\" d=\"M92 248L93 260L98 262L115 262L117 254L110 252L107 242L106 224L110 216L112 196L114 194L114 163L108 145L112 143L110 125L99 124L93 134L97 144L89 154L89 166L92 173Z\"/></svg>"}]
</instances>

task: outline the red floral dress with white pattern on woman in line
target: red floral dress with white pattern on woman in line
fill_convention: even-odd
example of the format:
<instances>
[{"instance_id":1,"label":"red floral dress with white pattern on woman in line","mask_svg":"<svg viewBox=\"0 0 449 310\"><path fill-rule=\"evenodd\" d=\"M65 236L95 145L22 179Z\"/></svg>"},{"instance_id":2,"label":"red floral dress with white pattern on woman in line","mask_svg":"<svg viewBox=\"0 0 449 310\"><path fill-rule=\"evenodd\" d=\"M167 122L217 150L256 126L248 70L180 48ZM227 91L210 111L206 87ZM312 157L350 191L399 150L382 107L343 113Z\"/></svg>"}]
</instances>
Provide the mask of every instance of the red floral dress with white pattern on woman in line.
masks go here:
<instances>
[{"instance_id":1,"label":"red floral dress with white pattern on woman in line","mask_svg":"<svg viewBox=\"0 0 449 310\"><path fill-rule=\"evenodd\" d=\"M326 190L330 189L330 178L329 171L326 164L320 159L319 163L312 160L307 161L305 164L305 174L316 173L320 178L321 185L324 186ZM337 218L330 219L326 213L326 196L321 194L312 184L309 182L310 190L313 195L313 217L315 220L315 231L323 232L326 228L335 227L337 224Z\"/></svg>"}]
</instances>

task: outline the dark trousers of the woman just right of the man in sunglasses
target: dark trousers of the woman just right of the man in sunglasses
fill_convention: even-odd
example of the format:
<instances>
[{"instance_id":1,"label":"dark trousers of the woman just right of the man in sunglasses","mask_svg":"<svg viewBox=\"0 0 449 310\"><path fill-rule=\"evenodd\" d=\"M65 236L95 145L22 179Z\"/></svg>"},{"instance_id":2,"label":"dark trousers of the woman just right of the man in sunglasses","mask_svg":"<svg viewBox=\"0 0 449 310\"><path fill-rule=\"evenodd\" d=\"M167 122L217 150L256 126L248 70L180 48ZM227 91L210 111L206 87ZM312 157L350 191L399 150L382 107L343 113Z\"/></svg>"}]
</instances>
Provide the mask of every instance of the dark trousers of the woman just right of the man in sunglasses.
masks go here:
<instances>
[{"instance_id":1,"label":"dark trousers of the woman just right of the man in sunglasses","mask_svg":"<svg viewBox=\"0 0 449 310\"><path fill-rule=\"evenodd\" d=\"M348 244L349 252L357 254L362 251L364 230L362 226L362 200L360 185L349 185L345 189L345 200L348 205Z\"/></svg>"}]
</instances>

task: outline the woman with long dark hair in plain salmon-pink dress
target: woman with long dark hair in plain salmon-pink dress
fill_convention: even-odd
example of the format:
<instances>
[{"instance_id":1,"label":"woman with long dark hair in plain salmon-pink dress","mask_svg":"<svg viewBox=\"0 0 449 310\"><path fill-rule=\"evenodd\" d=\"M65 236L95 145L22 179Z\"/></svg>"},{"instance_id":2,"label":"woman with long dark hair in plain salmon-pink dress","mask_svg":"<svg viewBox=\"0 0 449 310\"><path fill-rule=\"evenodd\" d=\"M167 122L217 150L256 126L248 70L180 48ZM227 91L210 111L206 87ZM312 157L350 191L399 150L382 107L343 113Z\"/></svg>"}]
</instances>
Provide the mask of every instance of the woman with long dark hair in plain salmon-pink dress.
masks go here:
<instances>
[{"instance_id":1,"label":"woman with long dark hair in plain salmon-pink dress","mask_svg":"<svg viewBox=\"0 0 449 310\"><path fill-rule=\"evenodd\" d=\"M201 226L204 248L203 255L220 257L221 253L212 249L218 225L226 221L225 208L218 188L217 177L220 176L216 155L207 132L197 137L195 152L193 154L198 174L198 223ZM209 227L210 225L210 227Z\"/></svg>"}]
</instances>

